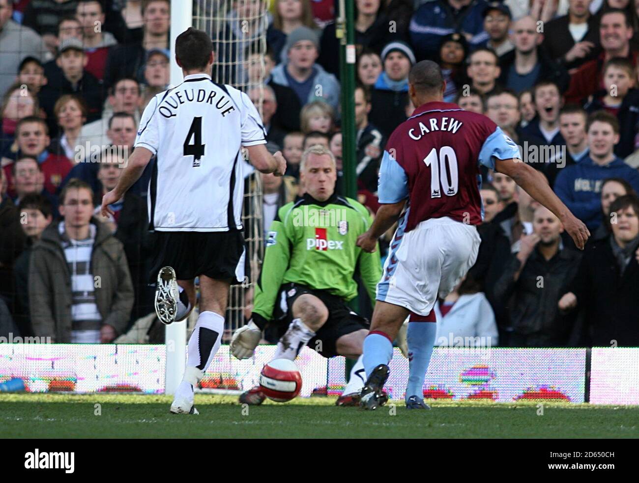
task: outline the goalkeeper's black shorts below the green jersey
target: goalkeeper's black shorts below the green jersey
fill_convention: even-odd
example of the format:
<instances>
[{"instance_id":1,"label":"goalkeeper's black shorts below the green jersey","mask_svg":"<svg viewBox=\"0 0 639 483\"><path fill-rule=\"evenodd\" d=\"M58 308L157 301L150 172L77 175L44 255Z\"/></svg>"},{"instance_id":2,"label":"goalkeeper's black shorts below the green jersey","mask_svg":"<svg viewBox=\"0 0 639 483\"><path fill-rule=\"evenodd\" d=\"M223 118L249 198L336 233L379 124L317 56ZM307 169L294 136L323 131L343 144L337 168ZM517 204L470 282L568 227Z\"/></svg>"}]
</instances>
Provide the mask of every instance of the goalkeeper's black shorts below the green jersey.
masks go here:
<instances>
[{"instance_id":1,"label":"goalkeeper's black shorts below the green jersey","mask_svg":"<svg viewBox=\"0 0 639 483\"><path fill-rule=\"evenodd\" d=\"M371 325L369 320L353 312L346 302L337 295L332 295L325 290L312 290L304 285L287 283L282 285L279 297L275 302L274 318L279 323L278 338L284 335L289 323L293 322L293 302L302 294L311 294L324 302L328 309L328 319L321 326L315 337L307 346L315 350L323 357L335 357L337 353L337 339L351 332L368 329ZM286 308L286 312L284 312Z\"/></svg>"}]
</instances>

